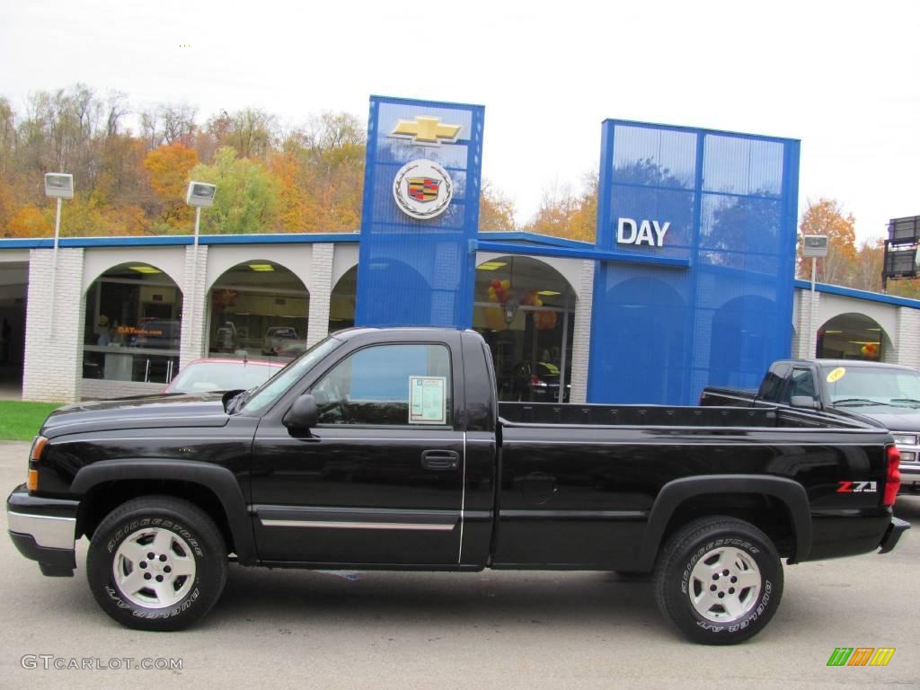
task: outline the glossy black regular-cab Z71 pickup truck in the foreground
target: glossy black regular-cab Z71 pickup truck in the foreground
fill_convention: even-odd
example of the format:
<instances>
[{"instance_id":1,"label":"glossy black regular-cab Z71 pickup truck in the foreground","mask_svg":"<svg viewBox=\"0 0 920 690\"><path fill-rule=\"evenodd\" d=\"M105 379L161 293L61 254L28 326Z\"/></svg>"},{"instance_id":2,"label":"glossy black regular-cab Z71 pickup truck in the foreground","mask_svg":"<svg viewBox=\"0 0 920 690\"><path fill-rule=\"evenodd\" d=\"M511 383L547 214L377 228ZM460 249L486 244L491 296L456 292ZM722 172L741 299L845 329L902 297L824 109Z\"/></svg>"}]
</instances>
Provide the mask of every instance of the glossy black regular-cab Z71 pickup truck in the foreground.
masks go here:
<instances>
[{"instance_id":1,"label":"glossy black regular-cab Z71 pickup truck in the foreground","mask_svg":"<svg viewBox=\"0 0 920 690\"><path fill-rule=\"evenodd\" d=\"M45 575L75 539L103 610L172 630L227 563L654 573L688 638L750 638L781 558L895 546L888 431L809 409L496 401L472 331L355 328L249 391L61 408L7 500ZM858 491L842 493L842 485Z\"/></svg>"}]
</instances>

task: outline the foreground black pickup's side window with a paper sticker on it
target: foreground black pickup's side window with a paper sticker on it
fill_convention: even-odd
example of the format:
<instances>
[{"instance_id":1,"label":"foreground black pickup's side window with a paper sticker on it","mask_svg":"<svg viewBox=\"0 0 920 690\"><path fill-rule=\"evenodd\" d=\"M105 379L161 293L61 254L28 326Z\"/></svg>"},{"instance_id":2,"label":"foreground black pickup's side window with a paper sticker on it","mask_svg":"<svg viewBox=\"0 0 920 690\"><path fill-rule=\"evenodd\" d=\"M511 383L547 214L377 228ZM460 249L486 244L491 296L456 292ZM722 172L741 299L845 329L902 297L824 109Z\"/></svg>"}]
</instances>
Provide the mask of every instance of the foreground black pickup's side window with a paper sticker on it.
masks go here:
<instances>
[{"instance_id":1,"label":"foreground black pickup's side window with a paper sticker on it","mask_svg":"<svg viewBox=\"0 0 920 690\"><path fill-rule=\"evenodd\" d=\"M354 352L313 386L320 424L453 423L450 351L376 345Z\"/></svg>"}]
</instances>

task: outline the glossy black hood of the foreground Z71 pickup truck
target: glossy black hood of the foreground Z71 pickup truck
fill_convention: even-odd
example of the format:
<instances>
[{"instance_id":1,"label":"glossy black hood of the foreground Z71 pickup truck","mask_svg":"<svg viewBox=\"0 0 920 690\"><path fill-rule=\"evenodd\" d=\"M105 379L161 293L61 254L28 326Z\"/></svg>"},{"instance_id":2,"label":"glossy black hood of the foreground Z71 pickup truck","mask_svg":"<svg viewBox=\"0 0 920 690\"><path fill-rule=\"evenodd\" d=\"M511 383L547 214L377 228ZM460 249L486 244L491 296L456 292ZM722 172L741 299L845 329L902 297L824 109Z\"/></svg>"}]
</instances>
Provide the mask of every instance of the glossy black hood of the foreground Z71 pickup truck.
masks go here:
<instances>
[{"instance_id":1,"label":"glossy black hood of the foreground Z71 pickup truck","mask_svg":"<svg viewBox=\"0 0 920 690\"><path fill-rule=\"evenodd\" d=\"M222 427L227 420L221 393L172 393L68 405L54 410L40 433L53 438L86 431Z\"/></svg>"}]
</instances>

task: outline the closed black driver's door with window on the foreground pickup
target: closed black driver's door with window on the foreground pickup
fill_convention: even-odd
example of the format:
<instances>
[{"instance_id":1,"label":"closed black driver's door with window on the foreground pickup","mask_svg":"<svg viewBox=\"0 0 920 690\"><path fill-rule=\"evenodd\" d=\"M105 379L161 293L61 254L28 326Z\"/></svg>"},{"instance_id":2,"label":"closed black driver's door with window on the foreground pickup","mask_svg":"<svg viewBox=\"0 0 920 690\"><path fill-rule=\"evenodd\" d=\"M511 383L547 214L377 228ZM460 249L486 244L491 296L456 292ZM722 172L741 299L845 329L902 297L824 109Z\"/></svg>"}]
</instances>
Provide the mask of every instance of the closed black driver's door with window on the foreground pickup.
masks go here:
<instances>
[{"instance_id":1,"label":"closed black driver's door with window on the foreground pickup","mask_svg":"<svg viewBox=\"0 0 920 690\"><path fill-rule=\"evenodd\" d=\"M252 473L259 558L457 563L465 460L457 355L433 342L352 351L310 387L313 429L263 419Z\"/></svg>"}]
</instances>

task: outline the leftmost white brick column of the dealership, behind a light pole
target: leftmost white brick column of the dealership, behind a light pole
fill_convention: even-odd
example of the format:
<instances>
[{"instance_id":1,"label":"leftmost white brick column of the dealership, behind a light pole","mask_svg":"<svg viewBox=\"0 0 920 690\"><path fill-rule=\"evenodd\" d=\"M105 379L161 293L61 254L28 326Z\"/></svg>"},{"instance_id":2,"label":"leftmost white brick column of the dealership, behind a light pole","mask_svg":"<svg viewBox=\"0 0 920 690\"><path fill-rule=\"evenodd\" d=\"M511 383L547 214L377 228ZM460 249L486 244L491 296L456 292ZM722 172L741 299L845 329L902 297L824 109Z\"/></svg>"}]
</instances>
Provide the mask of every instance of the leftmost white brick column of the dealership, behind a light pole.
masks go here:
<instances>
[{"instance_id":1,"label":"leftmost white brick column of the dealership, behind a light pole","mask_svg":"<svg viewBox=\"0 0 920 690\"><path fill-rule=\"evenodd\" d=\"M22 399L72 403L83 378L83 249L58 249L52 295L53 258L52 249L29 251Z\"/></svg>"}]
</instances>

